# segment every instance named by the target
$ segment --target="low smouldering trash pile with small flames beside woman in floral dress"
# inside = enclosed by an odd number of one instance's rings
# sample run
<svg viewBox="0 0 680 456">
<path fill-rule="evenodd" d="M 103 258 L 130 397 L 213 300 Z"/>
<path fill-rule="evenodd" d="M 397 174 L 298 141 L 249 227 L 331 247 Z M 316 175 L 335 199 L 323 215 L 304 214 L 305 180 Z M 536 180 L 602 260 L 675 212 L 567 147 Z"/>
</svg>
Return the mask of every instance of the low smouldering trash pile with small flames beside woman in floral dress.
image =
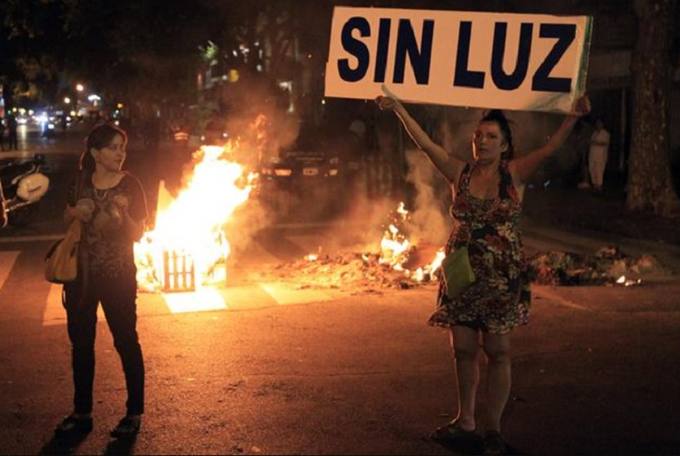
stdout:
<svg viewBox="0 0 680 456">
<path fill-rule="evenodd" d="M 444 251 L 409 241 L 410 217 L 404 203 L 390 214 L 379 251 L 314 253 L 264 270 L 260 278 L 297 282 L 301 287 L 349 290 L 408 289 L 436 282 Z M 422 265 L 425 258 L 430 262 Z"/>
</svg>

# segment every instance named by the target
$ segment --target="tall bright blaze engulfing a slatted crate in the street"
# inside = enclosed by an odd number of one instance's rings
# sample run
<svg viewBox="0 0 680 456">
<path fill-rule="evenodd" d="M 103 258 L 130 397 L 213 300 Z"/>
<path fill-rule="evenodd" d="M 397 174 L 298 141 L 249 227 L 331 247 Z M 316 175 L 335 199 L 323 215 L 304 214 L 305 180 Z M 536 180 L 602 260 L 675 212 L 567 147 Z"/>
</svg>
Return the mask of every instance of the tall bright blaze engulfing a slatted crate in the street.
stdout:
<svg viewBox="0 0 680 456">
<path fill-rule="evenodd" d="M 185 188 L 159 208 L 154 229 L 135 244 L 141 290 L 188 291 L 226 281 L 225 225 L 248 199 L 256 177 L 229 160 L 233 147 L 202 146 Z"/>
</svg>

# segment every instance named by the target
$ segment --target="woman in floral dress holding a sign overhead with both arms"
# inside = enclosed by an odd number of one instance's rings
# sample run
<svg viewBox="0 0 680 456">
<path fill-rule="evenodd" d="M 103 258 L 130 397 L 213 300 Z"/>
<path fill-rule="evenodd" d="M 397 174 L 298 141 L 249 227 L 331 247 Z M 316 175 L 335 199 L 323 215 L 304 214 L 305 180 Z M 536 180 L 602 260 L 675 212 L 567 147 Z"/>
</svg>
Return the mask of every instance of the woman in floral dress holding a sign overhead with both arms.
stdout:
<svg viewBox="0 0 680 456">
<path fill-rule="evenodd" d="M 583 97 L 577 102 L 575 112 L 564 119 L 547 144 L 519 157 L 514 155 L 512 131 L 504 114 L 488 112 L 477 125 L 468 163 L 433 142 L 404 106 L 384 90 L 388 96 L 376 99 L 380 109 L 397 114 L 414 143 L 451 185 L 454 227 L 446 245 L 447 259 L 452 252 L 466 248 L 465 263 L 455 269 L 467 268 L 474 277 L 470 285 L 449 283 L 448 289 L 442 280 L 437 308 L 429 320 L 430 325 L 450 329 L 459 395 L 457 417 L 434 431 L 432 438 L 445 442 L 477 436 L 475 398 L 481 337 L 488 358 L 484 450 L 499 454 L 505 450 L 500 431 L 510 394 L 510 335 L 528 322 L 531 302 L 518 228 L 523 186 L 538 165 L 562 145 L 578 117 L 589 112 L 589 101 Z M 442 275 L 445 277 L 446 271 Z"/>
</svg>

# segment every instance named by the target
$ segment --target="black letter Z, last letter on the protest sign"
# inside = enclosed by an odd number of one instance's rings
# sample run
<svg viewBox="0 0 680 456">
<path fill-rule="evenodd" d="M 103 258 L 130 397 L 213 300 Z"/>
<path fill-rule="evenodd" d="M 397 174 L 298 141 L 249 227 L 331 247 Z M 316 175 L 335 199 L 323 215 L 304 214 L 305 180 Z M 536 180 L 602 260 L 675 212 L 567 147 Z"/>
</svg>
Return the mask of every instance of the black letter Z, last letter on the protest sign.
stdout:
<svg viewBox="0 0 680 456">
<path fill-rule="evenodd" d="M 538 36 L 541 38 L 557 38 L 557 43 L 536 70 L 531 83 L 531 90 L 569 93 L 571 91 L 571 78 L 551 78 L 550 72 L 574 41 L 576 24 L 541 24 L 541 31 Z"/>
</svg>

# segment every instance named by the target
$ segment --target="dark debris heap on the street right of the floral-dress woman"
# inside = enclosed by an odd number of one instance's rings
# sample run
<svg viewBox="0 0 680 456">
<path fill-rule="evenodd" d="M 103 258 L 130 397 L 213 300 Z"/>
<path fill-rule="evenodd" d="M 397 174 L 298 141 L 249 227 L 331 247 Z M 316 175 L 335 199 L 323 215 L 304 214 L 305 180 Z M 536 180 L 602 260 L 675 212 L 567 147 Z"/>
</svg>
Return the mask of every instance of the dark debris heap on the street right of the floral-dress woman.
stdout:
<svg viewBox="0 0 680 456">
<path fill-rule="evenodd" d="M 595 255 L 543 252 L 529 259 L 532 281 L 541 285 L 640 285 L 642 275 L 662 272 L 651 255 L 633 258 L 609 246 Z"/>
</svg>

